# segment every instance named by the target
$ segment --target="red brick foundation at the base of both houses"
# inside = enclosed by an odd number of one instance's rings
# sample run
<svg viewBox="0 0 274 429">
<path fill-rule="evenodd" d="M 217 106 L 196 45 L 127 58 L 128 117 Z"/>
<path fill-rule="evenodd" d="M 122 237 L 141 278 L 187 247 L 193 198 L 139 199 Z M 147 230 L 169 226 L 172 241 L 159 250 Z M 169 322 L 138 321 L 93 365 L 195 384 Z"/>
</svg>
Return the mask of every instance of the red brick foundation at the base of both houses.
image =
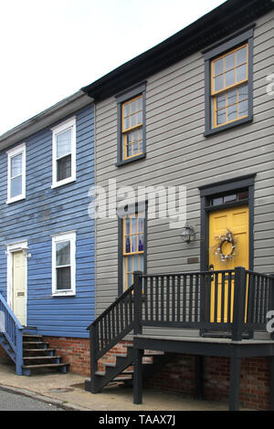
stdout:
<svg viewBox="0 0 274 429">
<path fill-rule="evenodd" d="M 57 350 L 64 361 L 70 364 L 69 371 L 90 377 L 90 340 L 74 338 L 45 337 L 50 347 Z M 121 341 L 100 359 L 98 370 L 104 371 L 102 362 L 115 362 L 114 354 L 126 353 L 130 341 Z M 205 399 L 228 402 L 229 359 L 205 357 Z M 147 383 L 163 391 L 195 393 L 195 357 L 178 355 L 162 371 Z M 244 407 L 269 410 L 269 360 L 249 358 L 242 360 L 240 402 Z"/>
</svg>

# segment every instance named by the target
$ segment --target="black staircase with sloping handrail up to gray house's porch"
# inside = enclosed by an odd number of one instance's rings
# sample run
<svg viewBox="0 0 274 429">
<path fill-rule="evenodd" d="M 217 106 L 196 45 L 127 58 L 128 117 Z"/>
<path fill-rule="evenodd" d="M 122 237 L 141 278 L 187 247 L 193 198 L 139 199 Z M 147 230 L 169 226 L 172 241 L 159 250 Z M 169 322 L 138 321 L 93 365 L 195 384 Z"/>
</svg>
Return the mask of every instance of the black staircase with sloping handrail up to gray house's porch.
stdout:
<svg viewBox="0 0 274 429">
<path fill-rule="evenodd" d="M 140 306 L 142 303 L 137 298 L 136 292 L 134 297 L 134 286 L 132 285 L 88 328 L 90 330 L 91 380 L 85 383 L 87 391 L 98 393 L 110 382 L 132 382 L 135 360 L 132 345 L 127 346 L 125 354 L 111 355 L 115 357 L 115 363 L 102 363 L 105 371 L 98 371 L 98 363 L 100 358 L 134 329 L 134 314 L 140 311 Z M 171 354 L 144 351 L 142 379 L 147 380 L 172 357 Z"/>
</svg>

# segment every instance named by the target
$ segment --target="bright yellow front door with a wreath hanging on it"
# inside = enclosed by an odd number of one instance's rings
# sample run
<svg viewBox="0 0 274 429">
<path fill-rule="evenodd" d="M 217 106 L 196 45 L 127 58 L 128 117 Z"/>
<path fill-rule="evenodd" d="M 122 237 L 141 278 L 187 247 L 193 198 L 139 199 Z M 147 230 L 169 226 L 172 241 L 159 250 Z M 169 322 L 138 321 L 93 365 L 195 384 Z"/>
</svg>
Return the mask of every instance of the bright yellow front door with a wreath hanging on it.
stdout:
<svg viewBox="0 0 274 429">
<path fill-rule="evenodd" d="M 233 243 L 226 241 L 224 237 L 231 233 Z M 233 245 L 234 244 L 234 245 Z M 233 247 L 235 246 L 235 247 Z M 209 216 L 209 266 L 215 271 L 246 267 L 249 261 L 249 214 L 248 206 L 228 208 L 212 212 Z M 210 321 L 220 321 L 221 312 L 221 285 L 218 285 L 215 293 L 215 282 L 211 285 L 210 297 Z M 227 321 L 227 282 L 225 285 L 225 322 Z M 232 284 L 231 299 L 234 297 L 234 284 Z M 217 298 L 216 298 L 217 296 Z M 217 302 L 216 302 L 217 300 Z M 215 309 L 217 308 L 217 320 Z M 231 305 L 231 317 L 233 305 Z"/>
</svg>

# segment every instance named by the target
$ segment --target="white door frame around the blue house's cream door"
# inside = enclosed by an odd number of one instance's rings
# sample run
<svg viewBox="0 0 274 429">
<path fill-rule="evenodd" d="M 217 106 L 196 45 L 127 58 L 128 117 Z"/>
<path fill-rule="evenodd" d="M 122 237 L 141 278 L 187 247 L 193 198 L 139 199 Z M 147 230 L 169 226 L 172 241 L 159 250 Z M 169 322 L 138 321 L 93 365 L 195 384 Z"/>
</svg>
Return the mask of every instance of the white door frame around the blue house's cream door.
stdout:
<svg viewBox="0 0 274 429">
<path fill-rule="evenodd" d="M 14 253 L 22 251 L 26 259 L 26 323 L 27 323 L 27 241 L 19 241 L 12 243 L 6 246 L 6 256 L 7 256 L 7 265 L 6 265 L 6 297 L 7 304 L 13 309 L 13 292 L 14 292 L 14 282 L 13 282 L 13 269 L 14 269 Z"/>
</svg>

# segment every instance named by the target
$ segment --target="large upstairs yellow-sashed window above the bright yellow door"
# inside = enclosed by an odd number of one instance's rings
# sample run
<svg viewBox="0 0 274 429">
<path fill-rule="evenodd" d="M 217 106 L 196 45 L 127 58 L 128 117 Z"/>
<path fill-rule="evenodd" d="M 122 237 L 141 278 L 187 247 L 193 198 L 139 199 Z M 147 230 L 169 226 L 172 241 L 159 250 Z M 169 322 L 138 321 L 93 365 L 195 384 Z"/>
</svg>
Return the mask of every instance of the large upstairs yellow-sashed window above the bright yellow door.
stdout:
<svg viewBox="0 0 274 429">
<path fill-rule="evenodd" d="M 205 52 L 205 136 L 253 118 L 253 34 Z"/>
</svg>

